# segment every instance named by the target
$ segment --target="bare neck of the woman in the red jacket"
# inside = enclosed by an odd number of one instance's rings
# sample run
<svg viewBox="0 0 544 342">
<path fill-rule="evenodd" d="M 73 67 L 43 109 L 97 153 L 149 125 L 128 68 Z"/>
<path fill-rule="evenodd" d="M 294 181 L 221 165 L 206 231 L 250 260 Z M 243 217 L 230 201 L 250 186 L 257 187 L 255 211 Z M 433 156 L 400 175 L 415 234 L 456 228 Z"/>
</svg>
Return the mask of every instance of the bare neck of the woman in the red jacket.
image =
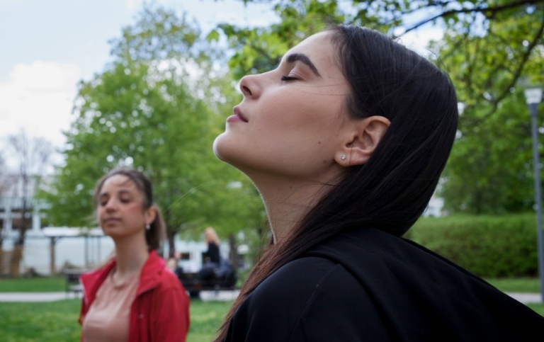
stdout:
<svg viewBox="0 0 544 342">
<path fill-rule="evenodd" d="M 140 272 L 147 257 L 147 244 L 145 236 L 125 236 L 123 239 L 115 240 L 115 258 L 117 260 L 115 273 L 118 276 L 130 275 Z"/>
</svg>

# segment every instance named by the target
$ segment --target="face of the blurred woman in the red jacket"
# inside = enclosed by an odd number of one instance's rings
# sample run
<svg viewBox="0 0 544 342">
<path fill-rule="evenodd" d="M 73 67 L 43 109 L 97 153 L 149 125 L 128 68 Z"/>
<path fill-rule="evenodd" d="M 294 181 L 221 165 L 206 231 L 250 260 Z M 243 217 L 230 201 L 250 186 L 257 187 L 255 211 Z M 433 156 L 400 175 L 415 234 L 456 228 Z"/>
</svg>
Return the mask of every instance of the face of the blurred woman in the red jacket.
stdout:
<svg viewBox="0 0 544 342">
<path fill-rule="evenodd" d="M 143 209 L 144 198 L 135 183 L 123 175 L 104 181 L 98 194 L 98 222 L 104 234 L 113 238 L 144 234 L 150 222 L 149 210 Z"/>
</svg>

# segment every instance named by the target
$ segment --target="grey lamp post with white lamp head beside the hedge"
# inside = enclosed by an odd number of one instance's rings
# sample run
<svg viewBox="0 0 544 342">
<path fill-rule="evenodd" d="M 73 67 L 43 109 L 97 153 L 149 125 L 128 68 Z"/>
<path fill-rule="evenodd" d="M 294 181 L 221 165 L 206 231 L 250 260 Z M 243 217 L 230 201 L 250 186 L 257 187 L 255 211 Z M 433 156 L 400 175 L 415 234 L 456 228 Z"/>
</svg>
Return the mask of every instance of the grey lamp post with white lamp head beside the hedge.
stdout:
<svg viewBox="0 0 544 342">
<path fill-rule="evenodd" d="M 538 103 L 542 101 L 542 89 L 526 89 L 525 98 L 531 112 L 531 126 L 533 131 L 533 166 L 535 169 L 535 200 L 536 200 L 536 239 L 538 246 L 538 276 L 540 277 L 540 301 L 544 301 L 544 246 L 542 234 L 542 195 L 540 194 L 540 162 L 538 161 L 538 132 L 536 115 Z"/>
</svg>

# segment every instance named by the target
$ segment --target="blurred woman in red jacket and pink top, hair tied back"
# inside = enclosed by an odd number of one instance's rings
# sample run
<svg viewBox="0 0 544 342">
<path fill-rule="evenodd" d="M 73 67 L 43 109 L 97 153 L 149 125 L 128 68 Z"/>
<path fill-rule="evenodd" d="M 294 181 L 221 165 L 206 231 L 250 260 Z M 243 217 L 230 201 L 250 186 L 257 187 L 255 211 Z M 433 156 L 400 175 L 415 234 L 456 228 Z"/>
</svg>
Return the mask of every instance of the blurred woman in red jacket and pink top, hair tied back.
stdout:
<svg viewBox="0 0 544 342">
<path fill-rule="evenodd" d="M 135 169 L 114 169 L 98 181 L 94 202 L 115 256 L 81 275 L 81 341 L 186 341 L 189 300 L 157 254 L 164 223 L 151 182 Z"/>
</svg>

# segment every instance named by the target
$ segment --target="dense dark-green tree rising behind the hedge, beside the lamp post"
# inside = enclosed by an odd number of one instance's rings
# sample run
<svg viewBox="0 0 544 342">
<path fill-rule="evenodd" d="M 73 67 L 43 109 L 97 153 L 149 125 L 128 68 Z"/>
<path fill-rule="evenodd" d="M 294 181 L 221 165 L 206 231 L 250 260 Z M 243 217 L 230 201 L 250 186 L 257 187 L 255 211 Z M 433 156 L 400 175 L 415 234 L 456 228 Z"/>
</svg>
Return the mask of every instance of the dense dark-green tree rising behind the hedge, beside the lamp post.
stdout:
<svg viewBox="0 0 544 342">
<path fill-rule="evenodd" d="M 487 120 L 458 132 L 441 190 L 448 210 L 502 214 L 531 208 L 531 124 L 520 108 L 525 108 L 523 91 L 516 91 Z M 482 115 L 489 110 L 472 108 L 477 109 Z"/>
</svg>

